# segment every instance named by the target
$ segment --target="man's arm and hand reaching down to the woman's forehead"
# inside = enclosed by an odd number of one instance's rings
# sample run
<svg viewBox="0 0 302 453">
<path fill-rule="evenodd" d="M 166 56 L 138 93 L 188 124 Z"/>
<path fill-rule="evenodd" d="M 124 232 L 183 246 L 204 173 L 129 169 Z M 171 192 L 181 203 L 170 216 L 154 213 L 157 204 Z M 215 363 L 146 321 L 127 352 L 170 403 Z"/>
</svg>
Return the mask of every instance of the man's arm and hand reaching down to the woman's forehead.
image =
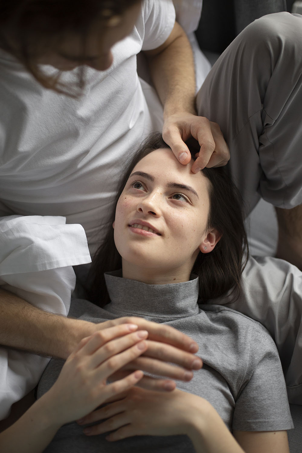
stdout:
<svg viewBox="0 0 302 453">
<path fill-rule="evenodd" d="M 168 39 L 158 48 L 145 51 L 151 77 L 163 103 L 163 139 L 182 164 L 191 160 L 183 141 L 191 136 L 200 145 L 194 172 L 205 166 L 225 165 L 229 149 L 219 126 L 202 116 L 196 116 L 195 71 L 191 45 L 182 27 L 177 24 Z"/>
</svg>

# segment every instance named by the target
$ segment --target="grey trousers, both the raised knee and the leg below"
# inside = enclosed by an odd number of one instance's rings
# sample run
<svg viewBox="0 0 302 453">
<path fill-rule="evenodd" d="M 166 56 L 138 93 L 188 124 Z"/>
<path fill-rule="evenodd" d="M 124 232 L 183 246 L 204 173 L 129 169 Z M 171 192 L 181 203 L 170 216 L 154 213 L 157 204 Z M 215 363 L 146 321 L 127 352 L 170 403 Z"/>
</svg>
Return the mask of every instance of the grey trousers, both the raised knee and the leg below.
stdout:
<svg viewBox="0 0 302 453">
<path fill-rule="evenodd" d="M 212 67 L 197 107 L 221 127 L 246 215 L 260 197 L 278 207 L 302 203 L 301 15 L 269 14 L 246 27 Z M 242 288 L 230 307 L 271 333 L 289 401 L 302 404 L 302 272 L 283 260 L 250 258 Z"/>
</svg>

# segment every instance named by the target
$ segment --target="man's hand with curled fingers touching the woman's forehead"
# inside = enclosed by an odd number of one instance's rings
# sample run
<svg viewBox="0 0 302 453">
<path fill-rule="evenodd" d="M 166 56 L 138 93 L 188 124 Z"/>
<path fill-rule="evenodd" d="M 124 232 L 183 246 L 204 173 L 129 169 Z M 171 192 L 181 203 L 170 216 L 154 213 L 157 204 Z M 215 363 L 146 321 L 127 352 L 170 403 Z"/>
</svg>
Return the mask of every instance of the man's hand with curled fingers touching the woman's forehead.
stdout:
<svg viewBox="0 0 302 453">
<path fill-rule="evenodd" d="M 198 173 L 205 167 L 222 167 L 230 159 L 220 127 L 203 116 L 179 113 L 168 116 L 163 124 L 163 140 L 172 149 L 181 164 L 188 164 L 191 154 L 184 143 L 193 137 L 200 145 L 192 172 Z"/>
</svg>

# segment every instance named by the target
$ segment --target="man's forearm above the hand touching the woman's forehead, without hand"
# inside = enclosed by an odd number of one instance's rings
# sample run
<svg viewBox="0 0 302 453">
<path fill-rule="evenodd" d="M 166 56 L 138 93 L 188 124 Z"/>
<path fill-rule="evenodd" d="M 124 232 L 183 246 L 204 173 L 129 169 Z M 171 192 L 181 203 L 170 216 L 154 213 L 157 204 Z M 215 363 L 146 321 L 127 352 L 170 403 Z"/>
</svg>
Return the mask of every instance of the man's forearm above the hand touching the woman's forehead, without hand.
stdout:
<svg viewBox="0 0 302 453">
<path fill-rule="evenodd" d="M 178 112 L 196 115 L 195 70 L 192 48 L 179 24 L 166 48 L 146 52 L 151 77 L 164 106 L 164 118 Z"/>
</svg>

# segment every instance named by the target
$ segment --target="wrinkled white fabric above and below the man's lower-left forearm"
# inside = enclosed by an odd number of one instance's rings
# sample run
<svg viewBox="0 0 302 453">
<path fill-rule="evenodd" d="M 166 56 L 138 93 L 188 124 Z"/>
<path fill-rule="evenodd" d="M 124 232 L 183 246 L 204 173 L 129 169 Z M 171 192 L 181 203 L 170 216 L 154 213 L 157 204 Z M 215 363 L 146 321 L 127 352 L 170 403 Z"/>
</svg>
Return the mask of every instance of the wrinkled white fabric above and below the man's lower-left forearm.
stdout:
<svg viewBox="0 0 302 453">
<path fill-rule="evenodd" d="M 0 223 L 0 288 L 62 316 L 76 283 L 72 265 L 91 262 L 83 227 L 65 222 L 65 217 L 10 216 Z M 48 361 L 0 347 L 0 419 L 37 385 Z"/>
</svg>

